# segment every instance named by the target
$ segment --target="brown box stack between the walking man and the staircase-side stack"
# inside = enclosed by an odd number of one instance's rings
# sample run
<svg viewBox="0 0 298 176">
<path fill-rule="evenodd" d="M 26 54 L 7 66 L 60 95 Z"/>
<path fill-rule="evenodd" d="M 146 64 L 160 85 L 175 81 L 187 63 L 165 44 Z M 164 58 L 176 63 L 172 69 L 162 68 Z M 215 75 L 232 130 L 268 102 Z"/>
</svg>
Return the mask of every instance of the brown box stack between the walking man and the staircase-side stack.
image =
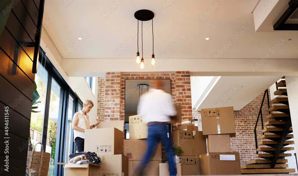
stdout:
<svg viewBox="0 0 298 176">
<path fill-rule="evenodd" d="M 181 120 L 181 126 L 172 133 L 173 143 L 181 147 L 181 175 L 200 175 L 199 156 L 207 152 L 206 138 L 194 125 L 193 119 Z"/>
</svg>

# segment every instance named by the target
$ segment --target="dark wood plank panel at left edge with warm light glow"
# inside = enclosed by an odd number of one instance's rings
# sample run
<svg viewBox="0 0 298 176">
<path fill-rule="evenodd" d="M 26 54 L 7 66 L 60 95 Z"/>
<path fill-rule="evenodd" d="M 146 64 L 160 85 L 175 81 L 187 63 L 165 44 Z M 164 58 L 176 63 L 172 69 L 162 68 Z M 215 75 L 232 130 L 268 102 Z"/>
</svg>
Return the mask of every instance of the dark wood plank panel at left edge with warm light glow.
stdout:
<svg viewBox="0 0 298 176">
<path fill-rule="evenodd" d="M 35 77 L 34 47 L 28 43 L 35 42 L 39 0 L 12 2 L 0 35 L 0 175 L 25 175 Z M 9 108 L 7 125 L 5 107 Z M 7 166 L 9 172 L 4 170 Z"/>
</svg>

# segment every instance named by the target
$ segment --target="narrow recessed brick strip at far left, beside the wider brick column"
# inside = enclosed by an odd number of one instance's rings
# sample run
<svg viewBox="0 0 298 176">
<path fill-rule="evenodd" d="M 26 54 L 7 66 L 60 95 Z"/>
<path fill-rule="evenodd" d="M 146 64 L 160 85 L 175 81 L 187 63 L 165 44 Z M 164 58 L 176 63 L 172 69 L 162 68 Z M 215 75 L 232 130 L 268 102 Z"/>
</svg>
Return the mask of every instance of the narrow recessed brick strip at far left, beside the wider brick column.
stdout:
<svg viewBox="0 0 298 176">
<path fill-rule="evenodd" d="M 98 77 L 97 92 L 98 120 L 105 121 L 105 77 Z"/>
</svg>

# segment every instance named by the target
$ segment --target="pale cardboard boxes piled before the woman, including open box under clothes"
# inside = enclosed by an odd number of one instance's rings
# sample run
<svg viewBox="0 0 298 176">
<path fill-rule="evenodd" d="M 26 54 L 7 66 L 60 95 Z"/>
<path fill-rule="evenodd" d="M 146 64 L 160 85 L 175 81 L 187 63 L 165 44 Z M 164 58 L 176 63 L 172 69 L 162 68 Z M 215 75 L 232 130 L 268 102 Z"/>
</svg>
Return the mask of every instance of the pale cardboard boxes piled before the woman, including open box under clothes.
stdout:
<svg viewBox="0 0 298 176">
<path fill-rule="evenodd" d="M 101 122 L 85 131 L 84 151 L 95 152 L 100 165 L 66 164 L 67 175 L 128 176 L 128 157 L 123 155 L 123 120 Z"/>
</svg>

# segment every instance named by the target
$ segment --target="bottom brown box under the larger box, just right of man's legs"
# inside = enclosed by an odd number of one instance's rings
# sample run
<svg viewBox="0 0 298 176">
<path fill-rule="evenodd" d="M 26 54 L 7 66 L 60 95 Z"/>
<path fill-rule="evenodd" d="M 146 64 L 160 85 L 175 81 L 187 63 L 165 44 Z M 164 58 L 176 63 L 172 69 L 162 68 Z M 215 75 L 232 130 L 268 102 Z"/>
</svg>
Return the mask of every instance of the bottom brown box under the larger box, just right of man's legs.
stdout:
<svg viewBox="0 0 298 176">
<path fill-rule="evenodd" d="M 181 175 L 201 175 L 200 156 L 180 156 Z"/>
</svg>

